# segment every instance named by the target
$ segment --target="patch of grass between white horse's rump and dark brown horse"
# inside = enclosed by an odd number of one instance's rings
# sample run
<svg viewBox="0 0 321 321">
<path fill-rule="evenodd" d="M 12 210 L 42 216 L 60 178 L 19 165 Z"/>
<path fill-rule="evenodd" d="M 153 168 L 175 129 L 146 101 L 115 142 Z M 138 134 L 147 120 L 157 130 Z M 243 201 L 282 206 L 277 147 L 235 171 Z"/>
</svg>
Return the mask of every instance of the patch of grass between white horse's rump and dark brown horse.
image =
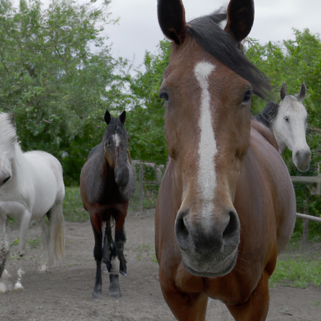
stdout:
<svg viewBox="0 0 321 321">
<path fill-rule="evenodd" d="M 65 187 L 63 211 L 65 221 L 82 222 L 89 220 L 89 213 L 82 205 L 79 187 Z"/>
</svg>

